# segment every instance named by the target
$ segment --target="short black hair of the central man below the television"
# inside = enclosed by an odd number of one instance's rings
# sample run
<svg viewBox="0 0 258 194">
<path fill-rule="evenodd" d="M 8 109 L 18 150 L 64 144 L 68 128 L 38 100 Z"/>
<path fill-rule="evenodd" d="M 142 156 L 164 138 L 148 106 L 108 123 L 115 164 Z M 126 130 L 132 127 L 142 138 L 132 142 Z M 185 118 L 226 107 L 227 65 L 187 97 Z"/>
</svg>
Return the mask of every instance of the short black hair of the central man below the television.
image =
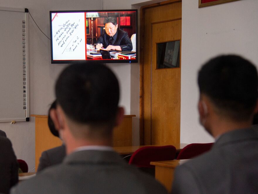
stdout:
<svg viewBox="0 0 258 194">
<path fill-rule="evenodd" d="M 55 85 L 57 103 L 78 123 L 113 123 L 118 111 L 119 84 L 106 66 L 79 63 L 65 68 Z"/>
</svg>

